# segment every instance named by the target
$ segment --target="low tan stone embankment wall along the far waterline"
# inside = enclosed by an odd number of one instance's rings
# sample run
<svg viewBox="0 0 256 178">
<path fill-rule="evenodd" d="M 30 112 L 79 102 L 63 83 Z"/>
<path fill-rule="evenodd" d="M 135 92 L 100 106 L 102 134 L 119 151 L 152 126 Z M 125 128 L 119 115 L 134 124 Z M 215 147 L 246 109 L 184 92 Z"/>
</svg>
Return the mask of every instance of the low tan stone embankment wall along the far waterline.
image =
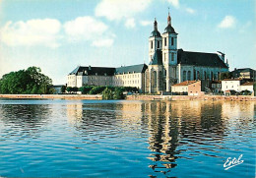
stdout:
<svg viewBox="0 0 256 178">
<path fill-rule="evenodd" d="M 0 94 L 0 98 L 18 98 L 18 99 L 85 99 L 102 100 L 100 94 Z M 226 101 L 256 101 L 256 96 L 251 95 L 127 95 L 124 100 L 226 100 Z"/>
</svg>

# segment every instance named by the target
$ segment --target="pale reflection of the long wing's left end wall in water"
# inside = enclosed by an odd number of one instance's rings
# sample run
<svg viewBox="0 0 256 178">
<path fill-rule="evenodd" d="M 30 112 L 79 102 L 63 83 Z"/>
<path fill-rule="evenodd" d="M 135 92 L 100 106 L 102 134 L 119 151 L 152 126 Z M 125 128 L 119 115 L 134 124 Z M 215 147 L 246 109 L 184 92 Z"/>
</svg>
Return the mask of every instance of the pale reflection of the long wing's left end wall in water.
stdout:
<svg viewBox="0 0 256 178">
<path fill-rule="evenodd" d="M 83 103 L 76 102 L 67 104 L 68 122 L 71 124 L 79 124 L 83 117 Z"/>
</svg>

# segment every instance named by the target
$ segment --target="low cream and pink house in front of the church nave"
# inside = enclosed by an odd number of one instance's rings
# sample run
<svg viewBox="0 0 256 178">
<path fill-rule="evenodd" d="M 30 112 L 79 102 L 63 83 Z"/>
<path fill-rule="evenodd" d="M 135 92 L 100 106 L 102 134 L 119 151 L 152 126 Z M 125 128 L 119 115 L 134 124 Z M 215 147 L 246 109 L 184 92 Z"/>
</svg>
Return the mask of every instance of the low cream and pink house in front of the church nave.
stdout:
<svg viewBox="0 0 256 178">
<path fill-rule="evenodd" d="M 172 93 L 187 93 L 188 95 L 201 95 L 201 81 L 185 81 L 171 86 Z"/>
</svg>

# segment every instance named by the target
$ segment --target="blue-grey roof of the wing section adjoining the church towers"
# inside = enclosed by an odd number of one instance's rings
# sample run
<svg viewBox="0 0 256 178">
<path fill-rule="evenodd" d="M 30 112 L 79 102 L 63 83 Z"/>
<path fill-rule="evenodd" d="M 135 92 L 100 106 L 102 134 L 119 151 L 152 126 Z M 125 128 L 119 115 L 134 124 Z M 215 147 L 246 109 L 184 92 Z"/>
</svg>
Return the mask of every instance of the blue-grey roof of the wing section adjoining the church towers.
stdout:
<svg viewBox="0 0 256 178">
<path fill-rule="evenodd" d="M 146 64 L 139 64 L 133 66 L 123 66 L 115 69 L 115 74 L 128 74 L 128 73 L 145 73 L 148 66 Z"/>
</svg>

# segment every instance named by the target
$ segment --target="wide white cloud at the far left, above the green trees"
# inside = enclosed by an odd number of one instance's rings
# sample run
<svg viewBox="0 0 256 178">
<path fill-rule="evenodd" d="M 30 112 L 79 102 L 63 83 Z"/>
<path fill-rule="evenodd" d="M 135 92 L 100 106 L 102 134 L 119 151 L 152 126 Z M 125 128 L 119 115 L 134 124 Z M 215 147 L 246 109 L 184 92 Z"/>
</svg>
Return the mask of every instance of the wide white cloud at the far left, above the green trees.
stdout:
<svg viewBox="0 0 256 178">
<path fill-rule="evenodd" d="M 43 45 L 57 47 L 61 24 L 54 19 L 35 19 L 27 22 L 7 22 L 0 29 L 0 40 L 9 46 Z"/>
</svg>

